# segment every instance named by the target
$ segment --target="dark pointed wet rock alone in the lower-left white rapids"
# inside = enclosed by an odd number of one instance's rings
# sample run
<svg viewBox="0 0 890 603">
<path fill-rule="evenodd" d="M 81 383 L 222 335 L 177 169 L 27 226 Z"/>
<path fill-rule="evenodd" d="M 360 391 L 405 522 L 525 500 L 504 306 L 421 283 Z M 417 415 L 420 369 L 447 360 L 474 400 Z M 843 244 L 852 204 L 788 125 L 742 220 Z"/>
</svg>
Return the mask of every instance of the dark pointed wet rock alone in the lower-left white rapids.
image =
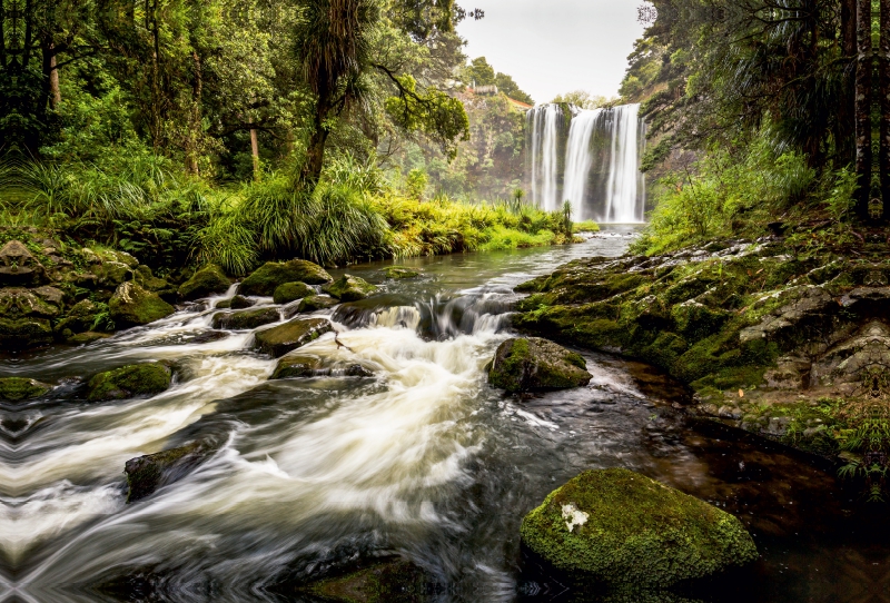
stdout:
<svg viewBox="0 0 890 603">
<path fill-rule="evenodd" d="M 192 442 L 178 448 L 130 458 L 125 465 L 127 474 L 127 503 L 135 503 L 157 492 L 158 488 L 181 480 L 216 452 L 208 442 Z"/>
</svg>

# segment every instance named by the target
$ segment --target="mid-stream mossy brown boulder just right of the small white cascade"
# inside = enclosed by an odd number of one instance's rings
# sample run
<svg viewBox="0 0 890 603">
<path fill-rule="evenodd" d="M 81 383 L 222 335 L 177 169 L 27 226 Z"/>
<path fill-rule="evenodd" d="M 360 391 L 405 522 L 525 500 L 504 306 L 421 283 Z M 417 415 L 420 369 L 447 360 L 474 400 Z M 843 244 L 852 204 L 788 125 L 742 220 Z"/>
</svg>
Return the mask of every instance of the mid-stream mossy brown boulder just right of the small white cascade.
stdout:
<svg viewBox="0 0 890 603">
<path fill-rule="evenodd" d="M 580 354 L 537 337 L 501 344 L 488 372 L 488 383 L 511 393 L 581 387 L 591 378 Z"/>
</svg>

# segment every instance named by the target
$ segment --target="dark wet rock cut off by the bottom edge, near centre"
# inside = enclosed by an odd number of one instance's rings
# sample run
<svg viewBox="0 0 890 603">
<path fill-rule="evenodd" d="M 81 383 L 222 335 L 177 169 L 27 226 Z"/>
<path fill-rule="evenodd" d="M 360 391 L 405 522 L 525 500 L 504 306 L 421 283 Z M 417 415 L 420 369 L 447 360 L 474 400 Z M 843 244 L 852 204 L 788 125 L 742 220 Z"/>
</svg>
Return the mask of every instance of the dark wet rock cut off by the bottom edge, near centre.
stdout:
<svg viewBox="0 0 890 603">
<path fill-rule="evenodd" d="M 432 603 L 437 600 L 433 577 L 407 561 L 383 563 L 323 580 L 308 590 L 325 601 L 343 603 Z"/>
</svg>

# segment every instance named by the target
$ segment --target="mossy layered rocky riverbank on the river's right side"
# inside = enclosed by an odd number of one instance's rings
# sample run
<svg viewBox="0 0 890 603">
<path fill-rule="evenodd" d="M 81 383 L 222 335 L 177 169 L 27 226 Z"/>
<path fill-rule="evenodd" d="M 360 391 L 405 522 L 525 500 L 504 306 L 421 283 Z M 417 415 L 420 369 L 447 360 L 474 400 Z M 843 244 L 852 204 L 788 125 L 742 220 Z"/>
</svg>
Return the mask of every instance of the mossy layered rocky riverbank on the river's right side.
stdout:
<svg viewBox="0 0 890 603">
<path fill-rule="evenodd" d="M 518 288 L 514 325 L 659 366 L 693 413 L 867 469 L 890 415 L 889 283 L 878 237 L 856 255 L 713 241 L 567 264 Z"/>
</svg>

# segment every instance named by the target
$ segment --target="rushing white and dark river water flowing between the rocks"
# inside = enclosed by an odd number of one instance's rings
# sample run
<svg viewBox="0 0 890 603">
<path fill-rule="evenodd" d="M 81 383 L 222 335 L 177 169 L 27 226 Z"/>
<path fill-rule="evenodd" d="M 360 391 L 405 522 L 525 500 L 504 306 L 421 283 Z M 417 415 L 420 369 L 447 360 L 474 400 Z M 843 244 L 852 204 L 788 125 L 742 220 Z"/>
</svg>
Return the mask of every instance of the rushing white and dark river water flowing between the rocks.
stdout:
<svg viewBox="0 0 890 603">
<path fill-rule="evenodd" d="M 417 260 L 424 276 L 398 283 L 382 265 L 350 269 L 386 294 L 334 314 L 346 347 L 327 335 L 305 350 L 360 362 L 373 379 L 269 382 L 275 362 L 250 352 L 253 334 L 212 332 L 200 307 L 0 360 L 2 376 L 60 384 L 49 401 L 0 408 L 0 600 L 108 600 L 97 585 L 113 581 L 128 600 L 308 601 L 284 585 L 398 554 L 436 576 L 442 602 L 563 601 L 522 569 L 520 522 L 581 471 L 625 466 L 751 528 L 763 561 L 716 600 L 870 601 L 890 557 L 869 538 L 882 524 L 858 527 L 831 475 L 788 451 L 692 429 L 683 389 L 645 366 L 587 355 L 585 388 L 516 399 L 487 387 L 512 288 L 619 255 L 625 235 Z M 148 359 L 175 363 L 167 393 L 82 399 L 79 379 Z M 204 434 L 225 442 L 208 463 L 125 503 L 127 459 Z"/>
</svg>

